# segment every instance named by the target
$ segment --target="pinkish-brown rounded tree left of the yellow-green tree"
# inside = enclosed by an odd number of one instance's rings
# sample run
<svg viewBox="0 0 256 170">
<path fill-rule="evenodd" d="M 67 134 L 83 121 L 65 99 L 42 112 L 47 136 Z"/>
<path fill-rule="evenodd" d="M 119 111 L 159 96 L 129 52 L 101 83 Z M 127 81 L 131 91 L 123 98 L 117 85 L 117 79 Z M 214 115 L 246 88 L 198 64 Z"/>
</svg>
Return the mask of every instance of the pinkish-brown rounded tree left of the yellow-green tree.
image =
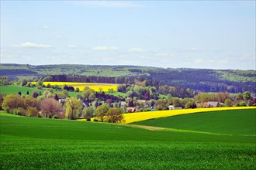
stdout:
<svg viewBox="0 0 256 170">
<path fill-rule="evenodd" d="M 62 111 L 61 104 L 54 100 L 54 98 L 47 98 L 41 100 L 40 108 L 42 110 L 43 116 L 49 118 L 54 117 Z"/>
</svg>

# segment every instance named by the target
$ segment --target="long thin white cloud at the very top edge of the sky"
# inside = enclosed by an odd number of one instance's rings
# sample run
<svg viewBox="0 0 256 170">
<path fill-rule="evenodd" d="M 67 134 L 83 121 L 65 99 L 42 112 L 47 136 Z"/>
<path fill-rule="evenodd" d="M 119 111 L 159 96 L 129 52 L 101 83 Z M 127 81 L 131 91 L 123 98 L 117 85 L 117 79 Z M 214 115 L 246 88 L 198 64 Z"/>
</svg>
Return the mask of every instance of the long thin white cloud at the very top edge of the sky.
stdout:
<svg viewBox="0 0 256 170">
<path fill-rule="evenodd" d="M 138 5 L 134 2 L 125 2 L 125 1 L 78 1 L 72 2 L 74 5 L 80 6 L 95 6 L 95 7 L 106 7 L 106 8 L 138 8 L 141 5 Z"/>
</svg>

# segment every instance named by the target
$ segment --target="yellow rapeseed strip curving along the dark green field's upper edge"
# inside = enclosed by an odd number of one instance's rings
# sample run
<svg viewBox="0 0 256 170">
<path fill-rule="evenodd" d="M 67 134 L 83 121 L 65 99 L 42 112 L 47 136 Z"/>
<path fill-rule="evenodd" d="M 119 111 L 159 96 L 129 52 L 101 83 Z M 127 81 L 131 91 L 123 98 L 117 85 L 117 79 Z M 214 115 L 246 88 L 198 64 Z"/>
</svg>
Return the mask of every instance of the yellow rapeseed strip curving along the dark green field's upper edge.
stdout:
<svg viewBox="0 0 256 170">
<path fill-rule="evenodd" d="M 211 108 L 198 108 L 198 109 L 182 109 L 182 110 L 161 110 L 161 111 L 148 111 L 137 112 L 131 114 L 123 114 L 125 124 L 130 124 L 137 121 L 145 121 L 159 117 L 171 117 L 180 114 L 193 114 L 206 111 L 216 110 L 239 110 L 239 109 L 256 109 L 256 107 L 211 107 Z"/>
</svg>

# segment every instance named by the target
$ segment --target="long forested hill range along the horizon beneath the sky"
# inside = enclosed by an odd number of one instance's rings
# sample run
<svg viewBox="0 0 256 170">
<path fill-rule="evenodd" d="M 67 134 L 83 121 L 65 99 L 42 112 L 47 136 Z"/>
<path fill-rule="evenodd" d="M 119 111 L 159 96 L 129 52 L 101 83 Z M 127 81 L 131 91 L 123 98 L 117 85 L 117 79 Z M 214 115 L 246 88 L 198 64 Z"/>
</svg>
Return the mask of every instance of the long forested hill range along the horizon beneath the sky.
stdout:
<svg viewBox="0 0 256 170">
<path fill-rule="evenodd" d="M 249 90 L 256 93 L 255 70 L 171 69 L 150 66 L 99 66 L 99 65 L 41 65 L 0 64 L 0 76 L 15 80 L 21 76 L 77 75 L 77 76 L 142 76 L 173 86 L 205 92 Z"/>
</svg>

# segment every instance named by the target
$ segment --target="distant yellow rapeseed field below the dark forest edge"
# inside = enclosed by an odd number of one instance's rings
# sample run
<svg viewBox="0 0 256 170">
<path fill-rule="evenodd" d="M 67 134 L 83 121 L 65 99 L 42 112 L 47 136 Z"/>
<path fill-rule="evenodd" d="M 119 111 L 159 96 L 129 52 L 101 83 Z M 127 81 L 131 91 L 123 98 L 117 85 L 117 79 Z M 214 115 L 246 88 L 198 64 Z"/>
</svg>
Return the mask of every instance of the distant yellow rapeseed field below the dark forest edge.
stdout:
<svg viewBox="0 0 256 170">
<path fill-rule="evenodd" d="M 31 82 L 36 84 L 36 82 Z M 50 83 L 51 86 L 72 86 L 74 89 L 79 88 L 80 91 L 84 90 L 85 87 L 89 87 L 95 91 L 100 91 L 102 88 L 103 91 L 109 91 L 109 89 L 113 89 L 114 91 L 117 90 L 118 84 L 110 84 L 110 83 L 76 83 L 76 82 L 43 82 L 43 85 L 47 86 Z"/>
</svg>

